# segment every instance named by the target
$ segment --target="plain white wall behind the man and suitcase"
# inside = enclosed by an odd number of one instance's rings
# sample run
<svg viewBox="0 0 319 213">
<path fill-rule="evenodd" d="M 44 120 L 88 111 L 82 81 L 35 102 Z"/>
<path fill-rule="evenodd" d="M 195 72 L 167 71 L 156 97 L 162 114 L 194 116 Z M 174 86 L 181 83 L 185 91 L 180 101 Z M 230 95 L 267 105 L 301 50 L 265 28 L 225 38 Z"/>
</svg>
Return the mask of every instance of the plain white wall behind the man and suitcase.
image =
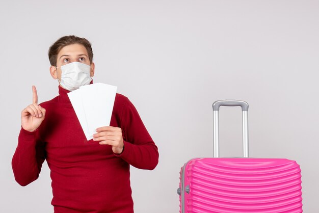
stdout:
<svg viewBox="0 0 319 213">
<path fill-rule="evenodd" d="M 319 1 L 2 1 L 0 212 L 52 212 L 49 170 L 20 187 L 11 169 L 20 112 L 58 95 L 48 47 L 93 45 L 94 82 L 117 85 L 159 148 L 154 171 L 131 169 L 136 212 L 178 212 L 180 167 L 212 156 L 218 99 L 250 104 L 250 155 L 295 159 L 304 212 L 319 212 Z M 241 155 L 241 111 L 222 108 L 221 155 Z"/>
</svg>

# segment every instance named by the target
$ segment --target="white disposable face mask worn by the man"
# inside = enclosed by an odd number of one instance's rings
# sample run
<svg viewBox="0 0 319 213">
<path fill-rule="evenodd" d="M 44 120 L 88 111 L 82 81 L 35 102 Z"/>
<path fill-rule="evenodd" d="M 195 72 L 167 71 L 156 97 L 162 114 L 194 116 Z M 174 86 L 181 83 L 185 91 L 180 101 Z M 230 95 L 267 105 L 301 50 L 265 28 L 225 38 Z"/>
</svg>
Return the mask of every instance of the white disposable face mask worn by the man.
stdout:
<svg viewBox="0 0 319 213">
<path fill-rule="evenodd" d="M 91 66 L 81 63 L 72 62 L 61 67 L 62 70 L 60 85 L 69 91 L 78 89 L 81 86 L 89 85 L 92 81 L 90 76 Z"/>
</svg>

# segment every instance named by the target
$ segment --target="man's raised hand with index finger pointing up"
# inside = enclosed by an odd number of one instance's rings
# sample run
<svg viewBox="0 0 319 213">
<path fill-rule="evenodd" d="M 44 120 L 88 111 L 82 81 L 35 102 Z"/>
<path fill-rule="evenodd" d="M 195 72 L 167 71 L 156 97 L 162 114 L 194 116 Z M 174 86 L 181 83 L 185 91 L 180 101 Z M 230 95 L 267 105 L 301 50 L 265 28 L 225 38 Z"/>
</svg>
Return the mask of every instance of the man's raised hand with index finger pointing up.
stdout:
<svg viewBox="0 0 319 213">
<path fill-rule="evenodd" d="M 45 116 L 45 109 L 38 105 L 38 94 L 32 86 L 33 102 L 21 112 L 21 126 L 27 131 L 35 131 L 41 125 Z"/>
</svg>

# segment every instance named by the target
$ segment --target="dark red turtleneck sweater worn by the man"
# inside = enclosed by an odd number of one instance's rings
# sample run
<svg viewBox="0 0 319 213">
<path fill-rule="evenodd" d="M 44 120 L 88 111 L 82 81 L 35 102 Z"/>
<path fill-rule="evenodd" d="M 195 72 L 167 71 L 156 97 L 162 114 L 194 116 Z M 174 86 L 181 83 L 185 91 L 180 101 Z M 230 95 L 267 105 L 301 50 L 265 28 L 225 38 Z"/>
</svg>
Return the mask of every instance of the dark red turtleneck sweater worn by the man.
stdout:
<svg viewBox="0 0 319 213">
<path fill-rule="evenodd" d="M 55 213 L 133 212 L 129 165 L 154 169 L 156 145 L 134 105 L 121 94 L 116 94 L 110 126 L 122 129 L 123 152 L 117 155 L 109 145 L 87 141 L 68 92 L 59 86 L 59 96 L 40 104 L 46 115 L 36 131 L 21 128 L 12 158 L 16 181 L 24 186 L 36 180 L 46 159 Z"/>
</svg>

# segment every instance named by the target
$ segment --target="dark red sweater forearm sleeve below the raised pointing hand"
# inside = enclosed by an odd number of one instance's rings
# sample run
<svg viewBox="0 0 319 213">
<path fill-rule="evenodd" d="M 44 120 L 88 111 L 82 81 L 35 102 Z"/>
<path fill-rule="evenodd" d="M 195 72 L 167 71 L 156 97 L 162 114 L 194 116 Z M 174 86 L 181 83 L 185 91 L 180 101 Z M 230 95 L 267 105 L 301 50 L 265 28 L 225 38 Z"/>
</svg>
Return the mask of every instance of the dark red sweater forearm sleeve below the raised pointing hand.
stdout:
<svg viewBox="0 0 319 213">
<path fill-rule="evenodd" d="M 15 180 L 22 186 L 39 177 L 45 159 L 44 142 L 40 141 L 39 129 L 20 130 L 18 146 L 12 157 L 12 170 Z"/>
</svg>

